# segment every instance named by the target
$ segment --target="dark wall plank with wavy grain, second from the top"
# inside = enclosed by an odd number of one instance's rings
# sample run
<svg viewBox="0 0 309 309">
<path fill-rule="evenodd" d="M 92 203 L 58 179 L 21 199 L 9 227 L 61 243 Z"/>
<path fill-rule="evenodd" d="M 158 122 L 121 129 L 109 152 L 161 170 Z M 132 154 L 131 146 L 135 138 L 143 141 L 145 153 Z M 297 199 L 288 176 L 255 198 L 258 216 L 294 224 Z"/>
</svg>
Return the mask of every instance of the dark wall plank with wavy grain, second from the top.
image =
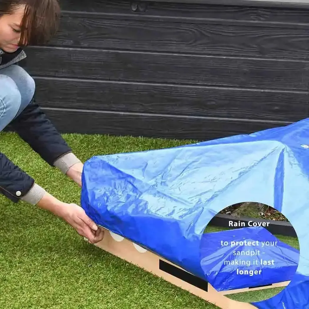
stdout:
<svg viewBox="0 0 309 309">
<path fill-rule="evenodd" d="M 148 16 L 149 17 L 149 16 Z M 133 19 L 134 18 L 134 19 Z M 306 28 L 266 27 L 230 22 L 188 22 L 155 18 L 85 16 L 65 13 L 50 45 L 213 54 L 277 59 L 309 58 Z"/>
</svg>

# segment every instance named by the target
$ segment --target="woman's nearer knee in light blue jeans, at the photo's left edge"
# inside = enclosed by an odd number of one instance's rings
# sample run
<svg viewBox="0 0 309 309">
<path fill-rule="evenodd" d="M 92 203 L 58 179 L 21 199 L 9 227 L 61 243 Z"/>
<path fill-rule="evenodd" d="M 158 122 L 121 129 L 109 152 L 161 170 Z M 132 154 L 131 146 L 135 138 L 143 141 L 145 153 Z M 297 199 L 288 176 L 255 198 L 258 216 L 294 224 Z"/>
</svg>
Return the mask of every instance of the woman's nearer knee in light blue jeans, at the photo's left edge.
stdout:
<svg viewBox="0 0 309 309">
<path fill-rule="evenodd" d="M 0 74 L 0 131 L 17 115 L 21 106 L 21 94 L 15 81 Z"/>
</svg>

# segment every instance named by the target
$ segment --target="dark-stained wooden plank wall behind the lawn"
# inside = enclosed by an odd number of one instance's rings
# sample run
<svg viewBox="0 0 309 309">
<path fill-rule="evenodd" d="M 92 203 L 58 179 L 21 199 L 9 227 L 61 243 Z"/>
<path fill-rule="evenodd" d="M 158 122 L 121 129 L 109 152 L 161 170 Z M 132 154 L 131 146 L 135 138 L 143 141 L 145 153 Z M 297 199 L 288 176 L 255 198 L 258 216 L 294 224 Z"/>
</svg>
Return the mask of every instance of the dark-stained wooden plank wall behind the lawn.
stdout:
<svg viewBox="0 0 309 309">
<path fill-rule="evenodd" d="M 309 9 L 62 0 L 26 49 L 62 132 L 208 140 L 308 117 Z"/>
</svg>

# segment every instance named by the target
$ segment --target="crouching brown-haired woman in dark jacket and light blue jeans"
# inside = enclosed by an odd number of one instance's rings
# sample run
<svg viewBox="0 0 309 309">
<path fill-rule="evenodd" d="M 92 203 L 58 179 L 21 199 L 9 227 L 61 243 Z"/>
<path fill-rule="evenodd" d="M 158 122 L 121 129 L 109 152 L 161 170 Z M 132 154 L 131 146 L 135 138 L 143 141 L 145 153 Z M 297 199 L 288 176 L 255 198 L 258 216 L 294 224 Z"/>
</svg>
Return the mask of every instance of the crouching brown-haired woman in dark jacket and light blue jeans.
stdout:
<svg viewBox="0 0 309 309">
<path fill-rule="evenodd" d="M 34 80 L 17 65 L 26 57 L 23 46 L 53 36 L 59 15 L 57 0 L 0 0 L 0 131 L 10 125 L 49 165 L 81 186 L 83 163 L 34 102 Z M 1 152 L 0 193 L 51 211 L 91 243 L 103 239 L 103 230 L 81 207 L 53 197 Z"/>
</svg>

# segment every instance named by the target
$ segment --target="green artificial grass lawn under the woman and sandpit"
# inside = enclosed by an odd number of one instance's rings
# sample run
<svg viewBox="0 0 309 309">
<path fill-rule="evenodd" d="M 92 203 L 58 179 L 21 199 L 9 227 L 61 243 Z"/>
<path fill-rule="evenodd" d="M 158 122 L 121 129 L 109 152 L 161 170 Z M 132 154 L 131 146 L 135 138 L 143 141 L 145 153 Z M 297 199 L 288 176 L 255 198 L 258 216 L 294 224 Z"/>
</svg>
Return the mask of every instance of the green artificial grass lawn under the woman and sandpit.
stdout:
<svg viewBox="0 0 309 309">
<path fill-rule="evenodd" d="M 82 161 L 93 155 L 195 142 L 63 136 Z M 0 150 L 49 193 L 79 204 L 78 185 L 45 163 L 16 134 L 0 133 Z M 12 203 L 2 195 L 0 237 L 0 308 L 218 308 L 86 243 L 49 212 L 23 202 Z"/>
</svg>

